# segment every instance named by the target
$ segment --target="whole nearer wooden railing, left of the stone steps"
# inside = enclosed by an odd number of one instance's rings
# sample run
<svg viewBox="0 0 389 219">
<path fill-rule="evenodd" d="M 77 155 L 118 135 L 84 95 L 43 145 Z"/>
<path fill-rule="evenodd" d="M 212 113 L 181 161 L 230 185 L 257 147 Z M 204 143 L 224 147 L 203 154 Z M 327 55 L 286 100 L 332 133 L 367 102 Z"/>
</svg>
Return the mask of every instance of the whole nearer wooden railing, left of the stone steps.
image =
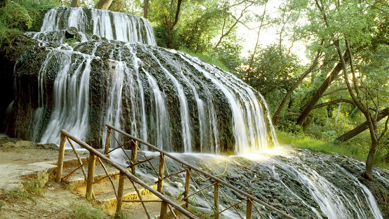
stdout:
<svg viewBox="0 0 389 219">
<path fill-rule="evenodd" d="M 107 136 L 107 141 L 106 141 L 106 150 L 105 150 L 105 152 L 107 152 L 107 153 L 109 153 L 109 151 L 107 150 L 109 148 L 109 138 L 110 138 L 110 135 Z M 78 159 L 78 161 L 80 163 L 80 166 L 77 167 L 74 171 L 72 171 L 67 176 L 62 177 L 63 158 L 64 158 L 64 154 L 65 154 L 65 143 L 66 143 L 66 140 L 68 140 L 68 142 L 70 143 L 71 147 L 73 148 L 73 151 L 74 151 L 74 153 L 75 153 L 75 155 L 76 155 L 76 157 L 77 157 L 77 159 Z M 86 150 L 89 151 L 88 173 L 85 172 L 84 167 L 83 167 L 85 163 L 82 163 L 82 160 L 81 160 L 77 150 L 75 150 L 75 147 L 74 147 L 72 141 L 70 141 L 70 140 L 74 141 L 75 143 L 77 143 L 78 145 L 80 145 L 81 147 L 83 147 L 83 148 L 85 148 Z M 134 142 L 133 145 L 136 145 L 135 142 Z M 119 146 L 117 148 L 122 148 L 124 153 L 127 155 L 127 157 L 131 161 L 136 161 L 136 156 L 137 156 L 136 152 L 137 152 L 137 150 L 136 150 L 135 146 L 132 146 L 132 147 L 133 147 L 133 150 L 132 150 L 132 153 L 131 153 L 131 158 L 124 151 L 123 145 L 121 145 L 121 146 Z M 117 148 L 114 148 L 114 149 L 117 149 Z M 163 156 L 161 156 L 161 157 L 163 157 Z M 76 170 L 81 168 L 82 173 L 83 173 L 83 175 L 84 175 L 84 177 L 86 179 L 86 198 L 87 199 L 93 198 L 93 196 L 94 196 L 94 194 L 93 194 L 93 184 L 94 184 L 94 182 L 96 182 L 96 181 L 94 181 L 96 158 L 98 159 L 98 161 L 102 165 L 102 167 L 103 167 L 103 169 L 104 169 L 104 171 L 106 173 L 106 177 L 109 178 L 109 180 L 110 180 L 110 182 L 112 184 L 112 187 L 114 189 L 114 192 L 115 192 L 115 195 L 116 195 L 116 200 L 117 200 L 117 205 L 116 205 L 116 213 L 117 214 L 119 214 L 122 211 L 122 203 L 123 202 L 141 202 L 143 207 L 144 207 L 145 214 L 147 215 L 147 218 L 151 219 L 151 216 L 150 216 L 150 214 L 149 214 L 149 212 L 147 210 L 147 207 L 145 205 L 145 202 L 150 202 L 150 201 L 143 200 L 142 195 L 140 194 L 140 192 L 139 192 L 139 190 L 137 188 L 137 185 L 136 185 L 136 184 L 138 184 L 138 185 L 144 187 L 145 189 L 149 190 L 152 194 L 154 194 L 155 196 L 157 196 L 160 199 L 160 200 L 156 200 L 157 202 L 161 202 L 161 212 L 160 212 L 160 216 L 159 216 L 160 219 L 166 219 L 166 217 L 167 217 L 167 209 L 168 208 L 170 208 L 171 214 L 175 218 L 177 218 L 177 216 L 175 215 L 172 207 L 175 208 L 176 210 L 178 210 L 179 212 L 181 212 L 182 214 L 184 214 L 186 217 L 188 217 L 190 219 L 198 219 L 198 217 L 196 217 L 192 213 L 188 212 L 187 210 L 185 210 L 181 206 L 177 205 L 176 203 L 174 203 L 170 199 L 166 198 L 163 194 L 161 194 L 162 180 L 158 184 L 158 191 L 153 189 L 151 186 L 149 186 L 148 184 L 146 184 L 145 182 L 143 182 L 142 180 L 138 179 L 137 177 L 135 177 L 133 175 L 133 173 L 135 173 L 135 165 L 131 168 L 131 172 L 132 173 L 130 173 L 126 168 L 124 168 L 124 167 L 120 166 L 119 164 L 113 162 L 111 159 L 107 158 L 105 155 L 103 155 L 102 153 L 98 152 L 95 148 L 92 148 L 91 146 L 86 144 L 84 141 L 81 141 L 78 138 L 76 138 L 75 136 L 72 136 L 69 132 L 67 132 L 65 130 L 61 130 L 61 141 L 60 141 L 60 148 L 59 148 L 59 153 L 58 153 L 58 163 L 57 163 L 58 167 L 57 167 L 57 173 L 56 173 L 56 182 L 60 183 L 63 180 L 63 178 L 69 177 L 69 175 L 71 175 Z M 103 164 L 103 161 L 108 163 L 108 164 L 110 164 L 111 166 L 113 166 L 117 170 L 119 170 L 119 185 L 118 185 L 117 190 L 116 190 L 115 185 L 114 185 L 114 183 L 113 183 L 113 181 L 111 179 L 112 175 L 109 175 L 107 169 L 105 168 L 105 166 Z M 161 161 L 161 159 L 160 159 L 160 161 Z M 164 161 L 163 161 L 163 163 L 164 163 Z M 163 169 L 161 170 L 161 167 L 159 168 L 159 174 L 163 175 Z M 135 191 L 138 194 L 139 200 L 123 200 L 124 177 L 127 177 L 131 181 Z"/>
</svg>

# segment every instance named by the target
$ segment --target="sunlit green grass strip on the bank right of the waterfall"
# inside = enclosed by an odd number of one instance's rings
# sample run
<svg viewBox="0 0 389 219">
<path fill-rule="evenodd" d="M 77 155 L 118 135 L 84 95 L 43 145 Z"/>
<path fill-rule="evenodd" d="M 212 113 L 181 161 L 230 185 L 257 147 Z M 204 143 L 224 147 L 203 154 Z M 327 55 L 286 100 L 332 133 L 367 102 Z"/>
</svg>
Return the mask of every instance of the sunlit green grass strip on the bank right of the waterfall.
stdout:
<svg viewBox="0 0 389 219">
<path fill-rule="evenodd" d="M 343 154 L 350 157 L 355 157 L 361 161 L 366 161 L 368 150 L 359 148 L 355 145 L 347 143 L 338 143 L 332 141 L 322 141 L 301 134 L 291 134 L 282 131 L 277 131 L 277 139 L 280 145 L 290 144 L 295 148 L 308 149 L 324 154 Z M 377 153 L 375 165 L 389 170 L 389 164 L 382 159 L 382 156 Z"/>
</svg>

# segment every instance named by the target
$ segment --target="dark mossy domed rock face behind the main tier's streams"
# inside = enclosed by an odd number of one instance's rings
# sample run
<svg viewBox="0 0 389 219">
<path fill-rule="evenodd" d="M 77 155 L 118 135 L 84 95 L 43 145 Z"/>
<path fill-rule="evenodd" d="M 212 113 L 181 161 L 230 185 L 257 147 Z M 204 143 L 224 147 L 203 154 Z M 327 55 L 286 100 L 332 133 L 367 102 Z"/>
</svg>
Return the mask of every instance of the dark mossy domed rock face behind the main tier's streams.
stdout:
<svg viewBox="0 0 389 219">
<path fill-rule="evenodd" d="M 55 35 L 56 32 L 47 34 Z M 239 95 L 242 94 L 238 94 L 234 89 L 243 86 L 242 82 L 235 81 L 233 76 L 228 76 L 229 73 L 221 72 L 220 69 L 217 70 L 202 62 L 193 64 L 192 61 L 185 60 L 190 57 L 185 58 L 184 54 L 140 43 L 96 38 L 96 40 L 79 42 L 71 48 L 66 45 L 58 46 L 60 44 L 56 37 L 53 37 L 53 41 L 45 46 L 39 45 L 28 37 L 21 37 L 21 39 L 18 40 L 21 41 L 20 46 L 12 48 L 14 50 L 10 50 L 12 53 L 8 54 L 8 57 L 12 58 L 17 57 L 15 53 L 21 52 L 17 62 L 15 61 L 16 72 L 12 74 L 10 71 L 7 72 L 8 75 L 12 75 L 11 79 L 16 81 L 18 87 L 15 92 L 16 97 L 10 98 L 9 101 L 15 100 L 11 113 L 7 116 L 9 119 L 6 126 L 9 135 L 39 141 L 47 124 L 53 120 L 51 117 L 56 104 L 53 90 L 59 72 L 63 72 L 61 68 L 64 67 L 64 60 L 69 62 L 66 64 L 67 77 L 75 74 L 75 66 L 79 66 L 78 72 L 85 71 L 86 60 L 90 60 L 88 127 L 83 139 L 88 144 L 96 148 L 102 146 L 104 123 L 107 118 L 105 114 L 109 108 L 107 104 L 115 98 L 109 96 L 112 95 L 109 94 L 109 89 L 115 80 L 113 77 L 116 74 L 114 73 L 116 66 L 120 64 L 126 72 L 123 73 L 125 76 L 123 84 L 120 85 L 121 90 L 116 91 L 122 98 L 119 104 L 121 109 L 116 109 L 116 111 L 120 110 L 120 118 L 116 120 L 124 131 L 147 138 L 149 143 L 158 145 L 161 135 L 157 130 L 159 125 L 156 121 L 159 110 L 157 107 L 162 106 L 157 106 L 154 92 L 160 92 L 163 94 L 166 105 L 163 107 L 166 108 L 170 125 L 168 130 L 165 130 L 168 136 L 164 137 L 163 143 L 159 142 L 165 144 L 163 145 L 165 150 L 183 152 L 186 144 L 191 147 L 191 151 L 196 152 L 234 154 L 237 151 L 234 133 L 236 130 L 229 102 L 231 97 L 226 96 L 228 95 L 226 88 L 215 84 L 215 81 L 222 79 L 233 81 L 230 85 L 223 86 L 231 89 L 229 95 L 236 95 L 239 99 Z M 22 44 L 25 46 L 21 46 Z M 199 67 L 204 70 L 200 71 Z M 207 75 L 217 74 L 218 76 L 212 76 L 211 79 L 210 76 L 205 76 L 203 71 L 209 71 Z M 223 74 L 227 76 L 224 78 Z M 77 86 L 81 83 L 81 74 L 78 76 L 76 81 L 72 82 Z M 151 87 L 151 78 L 155 79 L 158 88 Z M 40 88 L 44 88 L 44 92 Z M 259 94 L 255 95 L 260 98 Z M 202 101 L 204 108 L 200 107 L 198 101 Z M 7 104 L 4 104 L 3 108 Z M 237 104 L 244 106 L 244 101 L 237 100 Z M 185 122 L 182 121 L 181 115 L 184 112 L 183 106 L 187 110 Z M 36 113 L 40 113 L 39 121 L 32 120 Z M 211 117 L 212 122 L 210 122 Z M 39 124 L 39 126 L 32 124 Z M 144 134 L 146 133 L 144 124 L 147 125 L 147 134 Z M 185 129 L 183 124 L 187 125 Z M 270 127 L 269 123 L 267 125 Z M 185 139 L 183 132 L 190 136 L 187 138 L 189 140 Z"/>
</svg>

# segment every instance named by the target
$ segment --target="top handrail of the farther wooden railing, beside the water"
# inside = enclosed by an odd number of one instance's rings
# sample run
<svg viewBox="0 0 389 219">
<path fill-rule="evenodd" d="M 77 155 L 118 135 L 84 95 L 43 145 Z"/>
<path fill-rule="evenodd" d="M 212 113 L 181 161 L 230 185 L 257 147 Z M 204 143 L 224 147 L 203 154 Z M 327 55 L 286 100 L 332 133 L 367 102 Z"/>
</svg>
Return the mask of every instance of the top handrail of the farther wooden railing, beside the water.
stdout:
<svg viewBox="0 0 389 219">
<path fill-rule="evenodd" d="M 259 204 L 265 206 L 266 208 L 269 208 L 270 210 L 273 210 L 273 211 L 275 211 L 275 212 L 277 212 L 277 213 L 279 213 L 279 214 L 281 214 L 281 215 L 284 215 L 284 216 L 285 216 L 286 218 L 288 218 L 288 219 L 296 219 L 295 217 L 286 214 L 285 212 L 283 212 L 283 211 L 281 211 L 281 210 L 279 210 L 279 209 L 277 209 L 277 208 L 275 208 L 275 207 L 269 205 L 268 203 L 259 200 L 258 198 L 252 196 L 251 194 L 246 193 L 246 192 L 244 192 L 244 191 L 238 189 L 237 187 L 234 187 L 234 186 L 231 185 L 231 184 L 228 184 L 226 181 L 221 180 L 221 179 L 215 177 L 214 175 L 211 175 L 211 174 L 209 174 L 209 173 L 207 173 L 207 172 L 201 170 L 200 168 L 197 168 L 196 166 L 193 166 L 193 165 L 191 165 L 191 164 L 188 164 L 187 162 L 182 161 L 182 160 L 180 160 L 180 159 L 174 157 L 173 155 L 171 155 L 171 154 L 169 154 L 169 153 L 167 153 L 167 152 L 165 152 L 165 151 L 163 151 L 163 150 L 161 150 L 161 149 L 155 147 L 154 145 L 151 145 L 150 143 L 147 143 L 146 141 L 143 141 L 143 140 L 140 139 L 140 138 L 137 138 L 137 137 L 132 136 L 132 135 L 126 133 L 126 132 L 123 132 L 123 131 L 117 129 L 116 127 L 114 127 L 114 126 L 112 126 L 112 125 L 105 124 L 105 126 L 107 126 L 109 129 L 112 129 L 112 130 L 114 130 L 114 131 L 116 131 L 116 132 L 118 132 L 118 133 L 120 133 L 120 134 L 123 134 L 124 136 L 127 136 L 127 137 L 131 138 L 132 140 L 138 141 L 139 143 L 142 143 L 142 144 L 146 145 L 147 147 L 151 148 L 152 150 L 155 150 L 155 151 L 157 151 L 157 152 L 159 152 L 159 153 L 161 153 L 161 154 L 164 154 L 165 156 L 169 157 L 170 159 L 172 159 L 172 160 L 174 160 L 174 161 L 177 161 L 177 162 L 179 162 L 180 164 L 182 164 L 182 165 L 184 165 L 184 166 L 187 166 L 188 168 L 191 168 L 192 170 L 195 170 L 196 172 L 199 172 L 199 173 L 201 173 L 202 175 L 205 175 L 205 176 L 207 176 L 207 177 L 209 177 L 209 178 L 211 178 L 211 179 L 213 179 L 213 180 L 219 182 L 220 184 L 223 184 L 224 186 L 226 186 L 226 187 L 228 187 L 228 188 L 230 188 L 230 189 L 232 189 L 232 190 L 234 190 L 234 191 L 236 191 L 236 192 L 238 192 L 238 193 L 240 193 L 240 194 L 246 196 L 247 198 L 251 199 L 252 201 L 256 201 L 256 202 L 258 202 Z M 61 132 L 62 132 L 62 131 L 61 131 Z"/>
</svg>

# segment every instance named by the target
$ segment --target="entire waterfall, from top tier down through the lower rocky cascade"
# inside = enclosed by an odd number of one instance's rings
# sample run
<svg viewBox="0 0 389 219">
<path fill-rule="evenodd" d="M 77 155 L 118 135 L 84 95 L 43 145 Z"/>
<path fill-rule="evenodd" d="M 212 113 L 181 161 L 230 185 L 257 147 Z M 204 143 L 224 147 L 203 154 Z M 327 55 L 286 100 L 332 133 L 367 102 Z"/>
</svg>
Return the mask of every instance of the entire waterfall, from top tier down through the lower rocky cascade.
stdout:
<svg viewBox="0 0 389 219">
<path fill-rule="evenodd" d="M 80 40 L 73 45 L 66 43 L 70 26 L 79 30 Z M 47 12 L 41 32 L 25 35 L 36 43 L 28 44 L 14 65 L 15 98 L 4 122 L 9 136 L 58 144 L 65 129 L 98 148 L 109 123 L 162 150 L 188 152 L 177 157 L 295 217 L 387 217 L 376 200 L 387 194 L 387 171 L 375 168 L 376 181 L 367 183 L 360 177 L 364 163 L 356 159 L 292 148 L 287 154 L 266 152 L 278 142 L 263 96 L 214 65 L 156 47 L 147 20 L 60 7 Z M 111 138 L 111 147 L 116 146 Z M 218 155 L 249 152 L 255 153 L 250 158 Z M 125 165 L 125 159 L 118 162 Z M 179 171 L 171 162 L 166 159 L 168 171 Z M 156 180 L 147 170 L 137 174 Z M 183 178 L 179 174 L 174 182 L 166 180 L 165 191 L 182 191 Z M 193 178 L 203 186 L 213 183 Z M 231 191 L 227 196 L 235 203 L 242 200 Z M 228 201 L 220 200 L 221 209 L 226 208 Z M 202 197 L 197 201 L 200 209 L 211 209 Z M 280 218 L 263 206 L 259 209 L 265 218 Z M 230 210 L 223 214 L 239 218 Z"/>
</svg>

